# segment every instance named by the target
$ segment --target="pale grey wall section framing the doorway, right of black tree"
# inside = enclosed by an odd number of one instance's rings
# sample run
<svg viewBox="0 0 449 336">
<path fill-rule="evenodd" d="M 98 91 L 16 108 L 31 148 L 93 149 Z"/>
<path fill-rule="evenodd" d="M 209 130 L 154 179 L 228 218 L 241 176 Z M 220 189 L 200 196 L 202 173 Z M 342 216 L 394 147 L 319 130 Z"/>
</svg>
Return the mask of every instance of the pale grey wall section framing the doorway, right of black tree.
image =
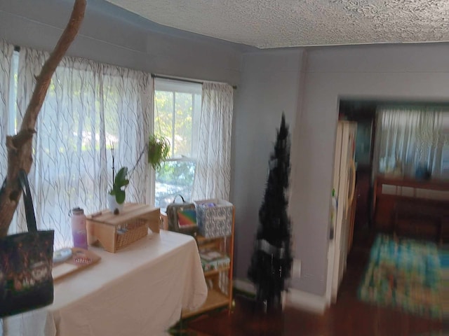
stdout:
<svg viewBox="0 0 449 336">
<path fill-rule="evenodd" d="M 302 113 L 290 212 L 302 277 L 291 286 L 316 295 L 326 290 L 330 192 L 340 97 L 448 101 L 449 44 L 364 45 L 307 52 Z M 291 206 L 294 204 L 294 207 Z"/>
</svg>

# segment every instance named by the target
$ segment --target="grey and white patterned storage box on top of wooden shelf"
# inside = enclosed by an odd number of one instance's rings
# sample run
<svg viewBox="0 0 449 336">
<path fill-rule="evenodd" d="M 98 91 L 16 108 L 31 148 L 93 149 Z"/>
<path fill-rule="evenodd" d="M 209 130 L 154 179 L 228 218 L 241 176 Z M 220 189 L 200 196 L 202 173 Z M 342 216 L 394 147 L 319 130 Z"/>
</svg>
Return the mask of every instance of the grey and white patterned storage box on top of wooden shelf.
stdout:
<svg viewBox="0 0 449 336">
<path fill-rule="evenodd" d="M 234 205 L 225 200 L 195 201 L 199 234 L 206 238 L 225 237 L 232 234 Z"/>
</svg>

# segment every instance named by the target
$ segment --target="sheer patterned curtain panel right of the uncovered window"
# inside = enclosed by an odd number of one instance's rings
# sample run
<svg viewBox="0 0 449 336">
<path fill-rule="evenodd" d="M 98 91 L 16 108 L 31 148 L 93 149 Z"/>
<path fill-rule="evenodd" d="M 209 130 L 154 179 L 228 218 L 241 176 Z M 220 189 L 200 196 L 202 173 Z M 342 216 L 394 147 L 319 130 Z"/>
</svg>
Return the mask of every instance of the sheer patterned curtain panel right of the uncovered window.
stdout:
<svg viewBox="0 0 449 336">
<path fill-rule="evenodd" d="M 203 83 L 192 200 L 229 200 L 233 95 L 231 85 Z"/>
</svg>

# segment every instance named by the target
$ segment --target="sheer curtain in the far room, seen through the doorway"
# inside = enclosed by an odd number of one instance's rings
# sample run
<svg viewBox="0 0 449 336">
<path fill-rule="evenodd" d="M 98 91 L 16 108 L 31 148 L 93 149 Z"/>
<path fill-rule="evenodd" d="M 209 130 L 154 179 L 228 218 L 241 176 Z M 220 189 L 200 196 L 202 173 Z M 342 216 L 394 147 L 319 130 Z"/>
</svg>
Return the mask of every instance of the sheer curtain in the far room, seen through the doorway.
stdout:
<svg viewBox="0 0 449 336">
<path fill-rule="evenodd" d="M 445 144 L 442 125 L 448 116 L 448 107 L 381 106 L 377 109 L 375 167 L 380 173 L 390 173 L 400 165 L 401 174 L 415 176 L 422 165 L 432 177 L 440 177 Z"/>
</svg>

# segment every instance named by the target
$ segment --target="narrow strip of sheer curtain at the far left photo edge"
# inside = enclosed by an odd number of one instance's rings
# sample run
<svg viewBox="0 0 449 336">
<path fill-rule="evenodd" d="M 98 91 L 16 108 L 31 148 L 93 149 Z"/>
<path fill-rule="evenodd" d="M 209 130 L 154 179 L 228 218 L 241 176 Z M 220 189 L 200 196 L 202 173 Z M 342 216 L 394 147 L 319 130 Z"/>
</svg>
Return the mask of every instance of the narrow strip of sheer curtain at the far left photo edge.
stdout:
<svg viewBox="0 0 449 336">
<path fill-rule="evenodd" d="M 6 176 L 8 155 L 6 152 L 6 135 L 11 135 L 8 129 L 11 84 L 11 64 L 14 47 L 0 39 L 0 183 Z"/>
</svg>

